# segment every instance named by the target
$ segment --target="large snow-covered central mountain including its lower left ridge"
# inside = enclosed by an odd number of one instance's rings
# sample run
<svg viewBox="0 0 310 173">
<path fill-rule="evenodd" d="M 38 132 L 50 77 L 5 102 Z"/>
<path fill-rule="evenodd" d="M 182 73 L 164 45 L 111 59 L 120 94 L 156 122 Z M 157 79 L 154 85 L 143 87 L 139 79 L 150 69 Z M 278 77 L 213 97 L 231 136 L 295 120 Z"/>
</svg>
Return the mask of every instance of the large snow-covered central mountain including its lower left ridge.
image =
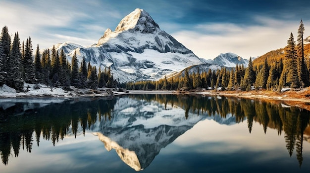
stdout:
<svg viewBox="0 0 310 173">
<path fill-rule="evenodd" d="M 171 72 L 204 62 L 191 50 L 160 30 L 158 24 L 143 9 L 136 9 L 124 17 L 115 31 L 107 29 L 97 44 L 83 47 L 65 43 L 59 45 L 67 59 L 76 52 L 97 69 L 110 67 L 120 82 L 155 80 Z"/>
</svg>

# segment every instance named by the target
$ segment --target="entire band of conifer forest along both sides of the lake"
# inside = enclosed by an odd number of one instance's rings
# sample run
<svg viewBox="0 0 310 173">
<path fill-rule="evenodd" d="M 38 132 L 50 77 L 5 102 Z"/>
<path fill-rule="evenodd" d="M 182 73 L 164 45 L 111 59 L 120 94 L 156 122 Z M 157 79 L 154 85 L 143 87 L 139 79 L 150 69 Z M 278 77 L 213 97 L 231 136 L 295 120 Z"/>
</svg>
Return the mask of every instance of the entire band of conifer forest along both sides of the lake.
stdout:
<svg viewBox="0 0 310 173">
<path fill-rule="evenodd" d="M 56 50 L 54 46 L 51 50 L 46 49 L 40 54 L 37 45 L 33 58 L 31 37 L 20 45 L 18 33 L 11 41 L 8 28 L 4 26 L 0 36 L 0 86 L 6 84 L 17 91 L 24 90 L 24 83 L 44 83 L 65 90 L 70 90 L 70 86 L 92 89 L 121 86 L 130 90 L 221 88 L 221 90 L 242 91 L 253 88 L 274 91 L 281 91 L 284 87 L 303 88 L 310 86 L 310 61 L 305 57 L 304 31 L 305 27 L 301 21 L 297 44 L 291 33 L 284 49 L 268 52 L 254 61 L 250 58 L 247 68 L 237 64 L 235 68 L 229 69 L 223 67 L 201 71 L 197 68 L 192 73 L 189 73 L 190 68 L 187 68 L 181 75 L 168 78 L 165 76 L 157 81 L 119 84 L 113 78 L 110 68 L 97 69 L 86 63 L 85 57 L 79 66 L 76 53 L 69 62 L 63 50 Z M 39 85 L 35 87 L 38 89 Z"/>
</svg>

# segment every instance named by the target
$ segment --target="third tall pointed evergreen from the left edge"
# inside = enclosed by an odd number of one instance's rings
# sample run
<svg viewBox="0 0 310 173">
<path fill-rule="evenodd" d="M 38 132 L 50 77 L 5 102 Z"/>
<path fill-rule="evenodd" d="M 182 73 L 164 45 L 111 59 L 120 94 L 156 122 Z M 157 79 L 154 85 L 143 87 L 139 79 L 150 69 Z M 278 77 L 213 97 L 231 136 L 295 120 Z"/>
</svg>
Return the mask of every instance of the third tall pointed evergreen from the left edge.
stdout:
<svg viewBox="0 0 310 173">
<path fill-rule="evenodd" d="M 35 66 L 32 59 L 32 43 L 31 38 L 26 41 L 25 52 L 24 52 L 24 72 L 25 72 L 25 82 L 36 83 L 36 73 Z"/>
</svg>

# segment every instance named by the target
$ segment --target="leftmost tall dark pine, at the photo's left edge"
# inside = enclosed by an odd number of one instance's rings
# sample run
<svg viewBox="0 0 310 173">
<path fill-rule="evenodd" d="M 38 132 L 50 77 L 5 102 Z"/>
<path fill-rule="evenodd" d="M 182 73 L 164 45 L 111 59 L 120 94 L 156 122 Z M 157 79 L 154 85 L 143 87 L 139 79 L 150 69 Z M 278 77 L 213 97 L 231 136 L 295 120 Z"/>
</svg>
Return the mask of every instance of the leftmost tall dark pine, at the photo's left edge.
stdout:
<svg viewBox="0 0 310 173">
<path fill-rule="evenodd" d="M 7 77 L 8 59 L 11 47 L 11 37 L 6 26 L 2 28 L 0 37 L 0 86 L 5 83 Z"/>
</svg>

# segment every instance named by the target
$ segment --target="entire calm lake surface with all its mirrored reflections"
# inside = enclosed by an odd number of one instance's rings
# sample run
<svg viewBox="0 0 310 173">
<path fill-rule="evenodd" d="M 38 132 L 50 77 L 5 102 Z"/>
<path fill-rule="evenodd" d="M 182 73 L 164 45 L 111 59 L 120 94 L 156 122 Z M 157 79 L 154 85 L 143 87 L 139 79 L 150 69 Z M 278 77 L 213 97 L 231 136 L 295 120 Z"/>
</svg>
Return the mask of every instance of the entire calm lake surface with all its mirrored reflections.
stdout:
<svg viewBox="0 0 310 173">
<path fill-rule="evenodd" d="M 218 96 L 1 99 L 0 173 L 309 173 L 309 124 Z"/>
</svg>

